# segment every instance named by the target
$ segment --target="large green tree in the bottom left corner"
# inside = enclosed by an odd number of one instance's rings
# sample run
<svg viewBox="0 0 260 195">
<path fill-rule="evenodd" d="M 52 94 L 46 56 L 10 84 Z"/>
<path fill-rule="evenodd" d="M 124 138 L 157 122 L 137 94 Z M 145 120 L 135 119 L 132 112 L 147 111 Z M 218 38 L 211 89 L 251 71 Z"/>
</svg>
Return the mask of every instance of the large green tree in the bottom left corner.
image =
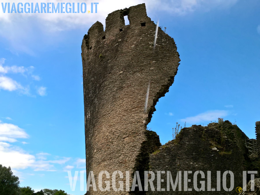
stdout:
<svg viewBox="0 0 260 195">
<path fill-rule="evenodd" d="M 7 168 L 0 164 L 0 194 L 18 195 L 19 184 L 19 178 L 13 174 L 10 166 Z"/>
</svg>

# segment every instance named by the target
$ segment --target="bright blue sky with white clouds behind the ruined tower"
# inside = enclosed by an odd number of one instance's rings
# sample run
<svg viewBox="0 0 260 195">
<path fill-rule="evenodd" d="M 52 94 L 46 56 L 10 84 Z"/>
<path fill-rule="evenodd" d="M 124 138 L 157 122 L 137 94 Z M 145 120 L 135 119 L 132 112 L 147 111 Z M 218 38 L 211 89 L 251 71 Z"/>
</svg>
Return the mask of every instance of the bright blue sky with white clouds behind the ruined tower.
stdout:
<svg viewBox="0 0 260 195">
<path fill-rule="evenodd" d="M 71 191 L 66 172 L 85 169 L 82 38 L 96 21 L 105 25 L 108 13 L 139 3 L 166 27 L 181 58 L 147 127 L 163 144 L 176 122 L 207 125 L 221 117 L 255 138 L 259 1 L 98 2 L 93 14 L 4 14 L 0 7 L 0 164 L 11 166 L 21 186 L 85 193 L 79 181 Z"/>
</svg>

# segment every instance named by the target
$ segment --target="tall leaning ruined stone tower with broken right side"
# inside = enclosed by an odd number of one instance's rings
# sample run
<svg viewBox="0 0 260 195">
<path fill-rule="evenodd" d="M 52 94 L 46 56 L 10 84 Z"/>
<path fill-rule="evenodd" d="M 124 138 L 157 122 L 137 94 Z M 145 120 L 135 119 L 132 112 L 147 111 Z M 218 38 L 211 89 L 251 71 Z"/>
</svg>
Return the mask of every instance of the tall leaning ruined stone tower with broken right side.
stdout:
<svg viewBox="0 0 260 195">
<path fill-rule="evenodd" d="M 180 59 L 173 38 L 160 28 L 153 49 L 155 29 L 140 4 L 108 14 L 105 31 L 97 21 L 83 38 L 86 169 L 96 180 L 102 170 L 110 177 L 120 170 L 125 183 L 125 171 L 130 171 L 131 189 L 133 171 L 148 170 L 148 150 L 160 145 L 155 133 L 147 134 L 146 125 L 172 85 Z M 87 194 L 102 193 L 91 190 Z M 128 194 L 125 186 L 118 194 Z"/>
</svg>

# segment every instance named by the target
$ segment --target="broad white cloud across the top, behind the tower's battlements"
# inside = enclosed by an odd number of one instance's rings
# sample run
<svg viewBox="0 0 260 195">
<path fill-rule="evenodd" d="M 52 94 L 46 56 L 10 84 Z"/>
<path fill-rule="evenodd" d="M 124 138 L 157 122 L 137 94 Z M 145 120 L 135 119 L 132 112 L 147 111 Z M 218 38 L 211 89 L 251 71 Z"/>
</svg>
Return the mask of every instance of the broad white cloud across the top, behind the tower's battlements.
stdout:
<svg viewBox="0 0 260 195">
<path fill-rule="evenodd" d="M 8 2 L 3 0 L 3 3 Z M 13 0 L 16 5 L 19 0 Z M 34 3 L 47 2 L 34 1 Z M 59 0 L 52 1 L 57 5 Z M 67 0 L 66 2 L 74 2 Z M 90 9 L 91 1 L 85 1 L 87 9 Z M 140 3 L 146 3 L 148 16 L 156 15 L 158 11 L 162 14 L 185 15 L 194 11 L 207 12 L 215 8 L 226 8 L 234 5 L 237 0 L 172 0 L 172 1 L 158 1 L 158 0 L 132 0 L 132 1 L 111 1 L 99 0 L 96 13 L 12 13 L 7 14 L 0 12 L 0 36 L 9 42 L 11 51 L 22 51 L 30 55 L 35 55 L 35 42 L 44 42 L 45 44 L 53 44 L 53 41 L 60 41 L 62 38 L 58 36 L 59 31 L 82 29 L 86 26 L 91 26 L 96 21 L 100 21 L 105 26 L 105 18 L 107 14 L 128 8 Z M 157 16 L 156 16 L 157 17 Z M 16 37 L 14 39 L 13 37 Z M 30 39 L 28 39 L 30 37 Z M 43 45 L 42 45 L 43 46 Z M 14 53 L 15 53 L 14 51 Z"/>
</svg>

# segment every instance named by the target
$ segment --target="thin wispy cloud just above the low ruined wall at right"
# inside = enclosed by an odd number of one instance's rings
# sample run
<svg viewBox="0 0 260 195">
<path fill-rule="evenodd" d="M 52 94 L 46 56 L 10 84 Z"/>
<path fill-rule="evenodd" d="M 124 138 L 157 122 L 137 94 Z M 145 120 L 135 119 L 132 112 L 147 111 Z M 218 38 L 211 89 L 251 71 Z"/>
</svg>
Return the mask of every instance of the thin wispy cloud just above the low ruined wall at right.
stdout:
<svg viewBox="0 0 260 195">
<path fill-rule="evenodd" d="M 204 122 L 204 121 L 214 121 L 217 120 L 220 117 L 227 116 L 228 112 L 226 110 L 213 110 L 213 111 L 207 111 L 201 114 L 198 114 L 196 116 L 187 117 L 184 119 L 181 119 L 181 122 L 187 122 L 187 123 L 197 123 L 197 122 Z"/>
</svg>

